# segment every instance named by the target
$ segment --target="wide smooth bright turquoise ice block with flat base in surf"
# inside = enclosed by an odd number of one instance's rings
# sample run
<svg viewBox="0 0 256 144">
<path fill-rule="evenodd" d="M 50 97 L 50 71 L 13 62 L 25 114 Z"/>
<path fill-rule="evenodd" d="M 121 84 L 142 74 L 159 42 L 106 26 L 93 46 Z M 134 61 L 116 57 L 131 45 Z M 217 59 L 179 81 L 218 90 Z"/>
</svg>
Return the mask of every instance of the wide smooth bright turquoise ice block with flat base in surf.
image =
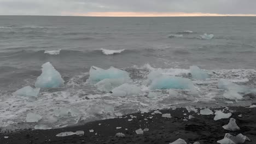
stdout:
<svg viewBox="0 0 256 144">
<path fill-rule="evenodd" d="M 177 76 L 163 75 L 155 77 L 149 86 L 150 89 L 193 89 L 193 82 L 189 79 Z"/>
</svg>

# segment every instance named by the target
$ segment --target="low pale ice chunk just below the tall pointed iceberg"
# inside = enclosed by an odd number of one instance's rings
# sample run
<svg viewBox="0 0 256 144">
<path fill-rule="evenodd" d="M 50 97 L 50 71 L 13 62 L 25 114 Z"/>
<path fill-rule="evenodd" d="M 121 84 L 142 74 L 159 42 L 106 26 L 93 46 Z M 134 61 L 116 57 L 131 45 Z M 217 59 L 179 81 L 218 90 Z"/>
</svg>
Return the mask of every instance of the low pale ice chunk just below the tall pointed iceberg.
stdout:
<svg viewBox="0 0 256 144">
<path fill-rule="evenodd" d="M 18 89 L 13 95 L 19 95 L 23 97 L 37 97 L 39 94 L 40 88 L 32 88 L 31 86 L 26 86 L 21 89 Z"/>
</svg>

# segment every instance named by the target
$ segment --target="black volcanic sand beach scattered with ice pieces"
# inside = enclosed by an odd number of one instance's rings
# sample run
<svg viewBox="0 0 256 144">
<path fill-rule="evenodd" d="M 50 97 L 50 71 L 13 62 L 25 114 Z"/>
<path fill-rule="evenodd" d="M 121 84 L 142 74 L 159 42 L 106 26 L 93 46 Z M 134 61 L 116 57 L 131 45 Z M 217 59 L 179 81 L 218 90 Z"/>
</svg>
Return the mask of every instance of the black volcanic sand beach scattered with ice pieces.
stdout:
<svg viewBox="0 0 256 144">
<path fill-rule="evenodd" d="M 217 143 L 218 140 L 223 139 L 225 133 L 236 135 L 242 133 L 251 139 L 251 143 L 256 142 L 256 108 L 245 107 L 229 107 L 233 110 L 232 118 L 236 119 L 237 125 L 241 128 L 239 131 L 227 131 L 222 128 L 223 125 L 229 123 L 229 119 L 220 119 L 214 121 L 214 115 L 203 116 L 197 113 L 190 112 L 183 108 L 176 110 L 160 110 L 162 113 L 171 113 L 172 118 L 163 118 L 160 114 L 151 115 L 145 113 L 133 113 L 132 121 L 130 115 L 127 118 L 106 119 L 103 121 L 90 122 L 84 125 L 67 127 L 62 129 L 51 130 L 23 130 L 15 133 L 0 134 L 0 144 L 26 144 L 26 143 L 161 143 L 168 144 L 177 140 L 184 139 L 188 143 L 199 141 L 201 144 Z M 184 111 L 184 112 L 183 112 Z M 183 115 L 187 113 L 187 115 Z M 242 114 L 242 118 L 238 115 Z M 195 116 L 189 119 L 188 122 L 183 121 L 183 118 L 188 118 L 189 115 Z M 152 119 L 147 117 L 153 116 Z M 147 118 L 148 121 L 144 120 Z M 101 125 L 98 125 L 101 123 Z M 116 129 L 116 127 L 122 127 Z M 127 128 L 128 130 L 125 130 Z M 149 128 L 149 131 L 144 132 L 143 135 L 137 135 L 135 130 L 139 128 Z M 94 133 L 89 130 L 94 129 Z M 66 136 L 57 137 L 56 134 L 65 131 L 85 131 L 84 136 Z M 95 135 L 97 133 L 97 135 Z M 124 133 L 126 137 L 115 137 L 116 133 Z M 9 136 L 4 139 L 4 136 Z"/>
</svg>

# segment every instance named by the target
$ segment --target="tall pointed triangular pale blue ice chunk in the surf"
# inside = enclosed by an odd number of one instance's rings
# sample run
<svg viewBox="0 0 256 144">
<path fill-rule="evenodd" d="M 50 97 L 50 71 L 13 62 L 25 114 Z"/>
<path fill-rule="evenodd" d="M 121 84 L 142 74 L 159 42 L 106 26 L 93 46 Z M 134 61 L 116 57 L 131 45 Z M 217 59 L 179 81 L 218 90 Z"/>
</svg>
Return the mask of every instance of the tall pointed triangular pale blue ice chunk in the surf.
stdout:
<svg viewBox="0 0 256 144">
<path fill-rule="evenodd" d="M 47 62 L 42 65 L 42 74 L 37 77 L 37 81 L 34 86 L 39 88 L 56 88 L 62 87 L 64 81 L 61 78 L 60 73 L 51 65 L 50 62 Z"/>
</svg>

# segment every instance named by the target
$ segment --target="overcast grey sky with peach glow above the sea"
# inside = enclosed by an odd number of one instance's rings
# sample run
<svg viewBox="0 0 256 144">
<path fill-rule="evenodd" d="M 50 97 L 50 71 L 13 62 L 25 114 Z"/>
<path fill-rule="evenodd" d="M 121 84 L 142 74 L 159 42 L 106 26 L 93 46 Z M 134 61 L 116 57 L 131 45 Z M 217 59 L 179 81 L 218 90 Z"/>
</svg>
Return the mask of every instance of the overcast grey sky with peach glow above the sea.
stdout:
<svg viewBox="0 0 256 144">
<path fill-rule="evenodd" d="M 0 15 L 256 16 L 256 0 L 0 0 Z"/>
</svg>

